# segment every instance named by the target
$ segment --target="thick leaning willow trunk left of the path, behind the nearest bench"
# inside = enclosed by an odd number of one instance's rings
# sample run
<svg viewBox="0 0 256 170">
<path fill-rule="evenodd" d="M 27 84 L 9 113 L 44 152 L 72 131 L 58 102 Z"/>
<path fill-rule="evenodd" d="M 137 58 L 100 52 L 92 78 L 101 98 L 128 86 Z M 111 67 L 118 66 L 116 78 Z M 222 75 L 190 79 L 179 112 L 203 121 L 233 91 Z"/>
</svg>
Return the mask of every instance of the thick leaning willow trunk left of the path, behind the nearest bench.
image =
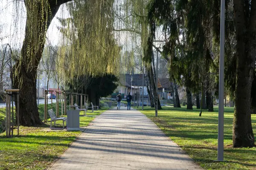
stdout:
<svg viewBox="0 0 256 170">
<path fill-rule="evenodd" d="M 49 0 L 49 4 L 45 5 L 47 7 L 42 6 L 41 1 L 25 1 L 25 39 L 21 48 L 21 58 L 13 66 L 11 75 L 13 88 L 20 89 L 20 125 L 43 124 L 36 103 L 36 70 L 44 50 L 45 33 L 60 5 L 68 1 L 70 0 Z M 35 6 L 38 6 L 38 11 L 33 11 Z M 17 106 L 17 99 L 15 105 Z"/>
</svg>

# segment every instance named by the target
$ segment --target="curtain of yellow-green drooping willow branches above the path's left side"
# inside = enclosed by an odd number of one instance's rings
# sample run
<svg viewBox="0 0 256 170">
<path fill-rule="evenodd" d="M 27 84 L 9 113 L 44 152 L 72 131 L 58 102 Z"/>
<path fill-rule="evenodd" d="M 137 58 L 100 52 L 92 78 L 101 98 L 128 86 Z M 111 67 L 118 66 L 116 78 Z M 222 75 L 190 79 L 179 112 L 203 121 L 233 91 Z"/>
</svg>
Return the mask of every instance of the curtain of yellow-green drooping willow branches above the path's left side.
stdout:
<svg viewBox="0 0 256 170">
<path fill-rule="evenodd" d="M 65 77 L 119 74 L 119 46 L 113 37 L 112 0 L 76 1 L 67 4 L 71 18 L 60 19 L 65 39 L 59 64 Z"/>
</svg>

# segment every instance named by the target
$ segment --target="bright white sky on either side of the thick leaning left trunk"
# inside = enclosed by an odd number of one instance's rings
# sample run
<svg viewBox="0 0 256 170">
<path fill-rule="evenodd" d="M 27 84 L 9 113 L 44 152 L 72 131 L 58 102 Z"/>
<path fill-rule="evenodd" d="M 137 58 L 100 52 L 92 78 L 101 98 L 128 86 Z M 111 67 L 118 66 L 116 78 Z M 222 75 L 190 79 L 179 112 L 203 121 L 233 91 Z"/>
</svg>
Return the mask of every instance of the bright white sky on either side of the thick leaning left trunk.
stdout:
<svg viewBox="0 0 256 170">
<path fill-rule="evenodd" d="M 57 45 L 60 26 L 56 17 L 68 17 L 66 7 L 62 5 L 47 31 L 47 38 L 52 45 Z M 0 0 L 0 45 L 9 43 L 12 47 L 21 48 L 24 39 L 26 25 L 26 8 L 24 2 L 20 1 L 17 6 L 13 0 Z"/>
</svg>

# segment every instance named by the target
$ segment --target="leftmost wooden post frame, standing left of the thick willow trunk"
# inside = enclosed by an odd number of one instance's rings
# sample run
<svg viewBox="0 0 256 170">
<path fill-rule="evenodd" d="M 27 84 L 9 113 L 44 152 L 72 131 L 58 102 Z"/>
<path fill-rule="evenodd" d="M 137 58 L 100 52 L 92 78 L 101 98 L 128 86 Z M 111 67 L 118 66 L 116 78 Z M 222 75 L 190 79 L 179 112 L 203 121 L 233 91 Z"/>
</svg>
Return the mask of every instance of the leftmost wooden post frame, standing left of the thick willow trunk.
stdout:
<svg viewBox="0 0 256 170">
<path fill-rule="evenodd" d="M 13 95 L 17 95 L 17 136 L 19 136 L 19 100 L 20 100 L 20 89 L 5 89 L 6 91 L 6 137 L 13 136 L 13 124 L 14 124 L 14 111 L 13 111 Z M 11 100 L 12 100 L 12 113 L 11 113 Z M 12 121 L 12 122 L 11 122 Z M 12 126 L 12 129 L 11 129 Z"/>
</svg>

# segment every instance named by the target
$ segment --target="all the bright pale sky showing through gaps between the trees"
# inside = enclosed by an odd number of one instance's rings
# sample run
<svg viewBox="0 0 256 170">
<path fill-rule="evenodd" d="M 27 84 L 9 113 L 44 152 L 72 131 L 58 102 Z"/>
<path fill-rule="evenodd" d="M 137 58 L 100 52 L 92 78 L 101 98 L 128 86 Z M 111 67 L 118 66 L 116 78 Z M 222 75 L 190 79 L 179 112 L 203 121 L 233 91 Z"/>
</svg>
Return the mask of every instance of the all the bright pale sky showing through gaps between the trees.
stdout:
<svg viewBox="0 0 256 170">
<path fill-rule="evenodd" d="M 12 48 L 21 48 L 24 39 L 24 30 L 26 25 L 26 8 L 24 6 L 23 0 L 15 3 L 16 0 L 0 0 L 0 46 L 9 43 Z M 119 0 L 116 0 L 116 6 L 120 4 Z M 117 11 L 120 15 L 123 14 L 122 11 Z M 65 5 L 61 5 L 57 14 L 53 18 L 51 25 L 47 31 L 47 42 L 51 45 L 58 45 L 61 43 L 61 34 L 57 29 L 60 23 L 57 17 L 67 18 L 70 17 Z M 118 25 L 122 26 L 122 22 Z M 161 28 L 160 28 L 161 29 Z M 160 30 L 156 31 L 157 40 L 163 39 L 163 34 Z M 128 32 L 116 32 L 115 34 L 117 43 L 125 47 L 124 51 L 130 51 L 136 45 L 131 44 L 131 34 Z M 140 46 L 140 36 L 133 38 L 133 43 L 135 42 L 137 46 Z M 157 47 L 161 46 L 161 43 L 156 42 Z"/>
</svg>

